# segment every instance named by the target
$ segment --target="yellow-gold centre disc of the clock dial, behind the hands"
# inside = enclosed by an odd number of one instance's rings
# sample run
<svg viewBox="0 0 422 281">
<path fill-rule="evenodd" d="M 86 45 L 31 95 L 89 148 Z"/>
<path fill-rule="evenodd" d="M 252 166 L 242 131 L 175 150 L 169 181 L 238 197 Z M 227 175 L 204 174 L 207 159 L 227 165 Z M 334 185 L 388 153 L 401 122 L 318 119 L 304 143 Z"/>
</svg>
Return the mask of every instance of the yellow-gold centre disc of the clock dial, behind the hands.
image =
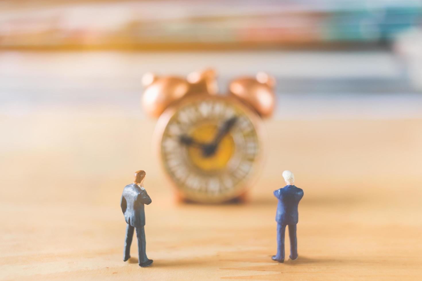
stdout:
<svg viewBox="0 0 422 281">
<path fill-rule="evenodd" d="M 215 124 L 202 124 L 193 129 L 191 136 L 195 141 L 211 143 L 218 131 Z M 235 143 L 230 133 L 226 134 L 212 155 L 204 155 L 200 147 L 189 147 L 188 155 L 192 163 L 203 171 L 225 169 L 235 150 Z"/>
</svg>

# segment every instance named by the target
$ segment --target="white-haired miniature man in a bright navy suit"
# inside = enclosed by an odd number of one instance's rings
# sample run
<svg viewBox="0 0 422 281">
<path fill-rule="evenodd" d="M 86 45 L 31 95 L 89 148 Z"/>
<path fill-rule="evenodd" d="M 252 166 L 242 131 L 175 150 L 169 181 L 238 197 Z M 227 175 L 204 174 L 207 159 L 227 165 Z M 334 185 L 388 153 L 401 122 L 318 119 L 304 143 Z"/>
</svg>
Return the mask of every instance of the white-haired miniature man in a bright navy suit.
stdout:
<svg viewBox="0 0 422 281">
<path fill-rule="evenodd" d="M 298 205 L 303 197 L 303 190 L 295 187 L 295 176 L 291 171 L 283 172 L 286 186 L 274 191 L 274 196 L 279 199 L 277 206 L 277 254 L 272 257 L 273 260 L 284 262 L 284 233 L 286 226 L 289 226 L 290 238 L 290 259 L 298 258 L 298 240 L 296 238 L 296 224 L 298 223 Z"/>
</svg>

